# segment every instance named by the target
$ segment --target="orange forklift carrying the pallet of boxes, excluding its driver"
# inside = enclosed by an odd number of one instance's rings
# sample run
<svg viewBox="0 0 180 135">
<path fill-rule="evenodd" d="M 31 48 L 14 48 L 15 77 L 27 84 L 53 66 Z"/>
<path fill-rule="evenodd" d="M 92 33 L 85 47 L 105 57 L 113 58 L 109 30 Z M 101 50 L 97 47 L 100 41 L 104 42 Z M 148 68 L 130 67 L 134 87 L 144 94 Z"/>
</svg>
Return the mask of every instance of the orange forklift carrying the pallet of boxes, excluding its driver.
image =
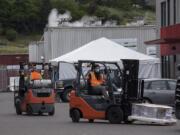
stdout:
<svg viewBox="0 0 180 135">
<path fill-rule="evenodd" d="M 99 65 L 101 73 L 106 76 L 103 86 L 108 92 L 109 99 L 101 94 L 89 92 L 87 73 L 91 72 L 93 65 Z M 78 61 L 76 69 L 77 78 L 69 103 L 72 122 L 79 122 L 81 118 L 89 122 L 94 122 L 95 119 L 108 120 L 112 124 L 132 122 L 128 120 L 132 104 L 142 103 L 143 99 L 143 85 L 138 86 L 138 60 L 122 60 L 121 64 Z"/>
</svg>

